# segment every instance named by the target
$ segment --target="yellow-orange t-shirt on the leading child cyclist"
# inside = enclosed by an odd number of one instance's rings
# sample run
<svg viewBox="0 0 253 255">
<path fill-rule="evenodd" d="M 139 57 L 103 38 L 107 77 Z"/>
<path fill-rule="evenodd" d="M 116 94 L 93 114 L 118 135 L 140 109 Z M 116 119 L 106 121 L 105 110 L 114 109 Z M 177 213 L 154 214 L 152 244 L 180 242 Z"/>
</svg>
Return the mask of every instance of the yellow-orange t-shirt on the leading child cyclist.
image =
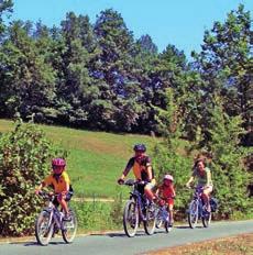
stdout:
<svg viewBox="0 0 253 255">
<path fill-rule="evenodd" d="M 68 191 L 67 185 L 70 185 L 70 180 L 66 171 L 63 171 L 58 178 L 54 177 L 54 174 L 51 174 L 43 180 L 43 182 L 45 185 L 52 185 L 56 193 Z"/>
</svg>

